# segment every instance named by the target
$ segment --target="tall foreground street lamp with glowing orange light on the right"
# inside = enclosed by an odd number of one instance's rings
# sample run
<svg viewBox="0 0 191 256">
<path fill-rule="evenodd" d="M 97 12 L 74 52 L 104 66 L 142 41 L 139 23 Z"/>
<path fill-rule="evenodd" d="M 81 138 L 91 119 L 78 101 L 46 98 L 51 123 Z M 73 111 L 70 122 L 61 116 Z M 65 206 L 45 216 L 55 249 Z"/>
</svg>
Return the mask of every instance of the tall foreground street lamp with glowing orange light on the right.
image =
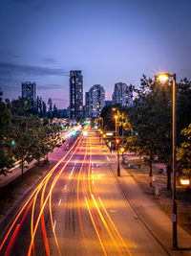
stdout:
<svg viewBox="0 0 191 256">
<path fill-rule="evenodd" d="M 178 239 L 177 239 L 177 157 L 176 157 L 176 148 L 177 148 L 177 113 L 176 113 L 176 74 L 170 75 L 159 74 L 156 77 L 159 81 L 168 81 L 170 78 L 173 78 L 173 249 L 178 248 Z"/>
</svg>

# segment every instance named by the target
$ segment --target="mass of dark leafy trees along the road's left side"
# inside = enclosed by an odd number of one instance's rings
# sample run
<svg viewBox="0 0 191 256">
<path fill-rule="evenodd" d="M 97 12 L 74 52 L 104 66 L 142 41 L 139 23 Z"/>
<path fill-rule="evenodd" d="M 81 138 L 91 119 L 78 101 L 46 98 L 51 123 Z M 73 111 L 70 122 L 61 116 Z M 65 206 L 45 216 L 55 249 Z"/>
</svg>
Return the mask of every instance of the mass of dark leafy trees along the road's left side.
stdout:
<svg viewBox="0 0 191 256">
<path fill-rule="evenodd" d="M 33 108 L 27 98 L 4 102 L 0 92 L 0 175 L 7 175 L 18 161 L 23 176 L 24 168 L 32 160 L 40 164 L 48 152 L 60 146 L 57 137 L 60 127 L 47 118 L 52 109 L 40 118 L 32 114 Z"/>
</svg>

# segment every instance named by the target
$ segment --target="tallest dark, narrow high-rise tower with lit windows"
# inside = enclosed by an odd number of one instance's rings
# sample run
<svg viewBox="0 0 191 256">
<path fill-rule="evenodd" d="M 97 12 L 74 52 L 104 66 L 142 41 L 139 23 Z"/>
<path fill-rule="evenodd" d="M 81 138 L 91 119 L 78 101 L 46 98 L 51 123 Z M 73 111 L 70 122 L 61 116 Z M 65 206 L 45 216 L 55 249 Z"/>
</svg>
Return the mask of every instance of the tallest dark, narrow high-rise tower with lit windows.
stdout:
<svg viewBox="0 0 191 256">
<path fill-rule="evenodd" d="M 83 117 L 83 76 L 81 70 L 70 71 L 70 118 Z"/>
</svg>

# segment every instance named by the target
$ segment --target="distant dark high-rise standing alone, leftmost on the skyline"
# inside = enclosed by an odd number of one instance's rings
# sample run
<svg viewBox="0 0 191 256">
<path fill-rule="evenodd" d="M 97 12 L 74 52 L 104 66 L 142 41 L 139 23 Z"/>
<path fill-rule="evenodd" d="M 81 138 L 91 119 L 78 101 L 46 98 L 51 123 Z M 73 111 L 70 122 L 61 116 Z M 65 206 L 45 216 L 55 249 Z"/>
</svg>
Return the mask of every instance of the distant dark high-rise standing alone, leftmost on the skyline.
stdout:
<svg viewBox="0 0 191 256">
<path fill-rule="evenodd" d="M 28 98 L 32 105 L 36 100 L 36 83 L 31 81 L 25 81 L 21 84 L 22 97 Z"/>
</svg>

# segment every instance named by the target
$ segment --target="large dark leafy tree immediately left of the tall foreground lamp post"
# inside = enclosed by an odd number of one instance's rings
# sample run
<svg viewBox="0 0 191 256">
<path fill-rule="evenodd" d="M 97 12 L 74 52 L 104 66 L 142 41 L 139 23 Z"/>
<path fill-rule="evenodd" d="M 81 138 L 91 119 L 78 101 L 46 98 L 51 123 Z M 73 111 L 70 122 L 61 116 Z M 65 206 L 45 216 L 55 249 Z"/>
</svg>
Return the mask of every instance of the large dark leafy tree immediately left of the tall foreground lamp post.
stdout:
<svg viewBox="0 0 191 256">
<path fill-rule="evenodd" d="M 148 155 L 144 161 L 149 166 L 150 176 L 157 158 L 172 166 L 171 159 L 166 157 L 166 153 L 171 155 L 169 151 L 172 151 L 171 146 L 169 147 L 169 141 L 172 141 L 169 88 L 168 84 L 161 86 L 159 82 L 143 76 L 141 86 L 136 90 L 136 105 L 131 107 L 128 113 L 132 128 L 138 133 L 138 138 L 132 140 L 131 147 L 136 148 L 138 153 Z"/>
</svg>

